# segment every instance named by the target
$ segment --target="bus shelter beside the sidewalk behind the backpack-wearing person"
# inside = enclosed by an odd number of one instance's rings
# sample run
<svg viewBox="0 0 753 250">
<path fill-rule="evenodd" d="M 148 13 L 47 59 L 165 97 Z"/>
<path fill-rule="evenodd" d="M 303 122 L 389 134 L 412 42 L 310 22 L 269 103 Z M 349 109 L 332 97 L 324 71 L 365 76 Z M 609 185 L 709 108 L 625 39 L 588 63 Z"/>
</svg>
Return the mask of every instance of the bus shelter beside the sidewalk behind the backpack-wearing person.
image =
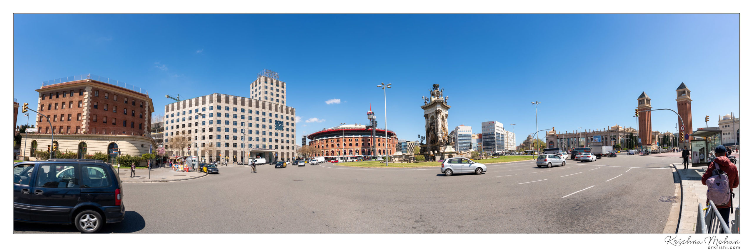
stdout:
<svg viewBox="0 0 753 250">
<path fill-rule="evenodd" d="M 714 154 L 714 148 L 721 145 L 721 129 L 698 128 L 690 134 L 691 163 L 693 167 L 709 165 L 709 157 Z"/>
</svg>

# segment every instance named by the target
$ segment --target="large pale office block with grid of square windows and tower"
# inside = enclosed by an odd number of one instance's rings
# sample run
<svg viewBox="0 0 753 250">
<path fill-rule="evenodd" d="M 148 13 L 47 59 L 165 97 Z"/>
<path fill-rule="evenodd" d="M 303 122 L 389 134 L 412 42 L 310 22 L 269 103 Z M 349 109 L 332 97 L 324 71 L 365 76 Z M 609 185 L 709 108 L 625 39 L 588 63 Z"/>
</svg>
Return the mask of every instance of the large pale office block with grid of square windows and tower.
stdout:
<svg viewBox="0 0 753 250">
<path fill-rule="evenodd" d="M 295 158 L 295 109 L 285 105 L 286 83 L 262 71 L 252 98 L 214 93 L 165 105 L 168 155 L 247 162 Z M 190 149 L 188 146 L 191 146 Z"/>
</svg>

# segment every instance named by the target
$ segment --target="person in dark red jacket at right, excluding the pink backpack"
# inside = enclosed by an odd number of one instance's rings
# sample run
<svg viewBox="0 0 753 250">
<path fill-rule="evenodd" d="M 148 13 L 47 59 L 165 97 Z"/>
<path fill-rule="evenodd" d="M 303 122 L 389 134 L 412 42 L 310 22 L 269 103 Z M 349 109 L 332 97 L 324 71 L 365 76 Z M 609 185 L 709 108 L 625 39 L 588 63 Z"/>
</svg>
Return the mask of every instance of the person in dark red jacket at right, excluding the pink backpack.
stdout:
<svg viewBox="0 0 753 250">
<path fill-rule="evenodd" d="M 725 174 L 727 174 L 727 179 L 729 180 L 728 184 L 730 185 L 729 200 L 714 200 L 714 204 L 721 214 L 721 218 L 724 218 L 724 222 L 729 225 L 730 212 L 732 210 L 732 198 L 735 197 L 735 193 L 733 192 L 732 188 L 736 188 L 740 184 L 740 179 L 737 173 L 737 167 L 735 166 L 735 164 L 732 164 L 730 158 L 727 158 L 726 156 L 727 149 L 724 149 L 724 146 L 719 145 L 714 149 L 714 153 L 716 155 L 716 159 L 709 163 L 709 167 L 706 169 L 706 173 L 703 173 L 703 176 L 701 176 L 701 183 L 703 183 L 703 185 L 706 185 L 706 179 L 709 179 L 709 177 L 712 176 L 712 172 L 714 172 L 717 167 L 719 168 L 719 170 L 722 170 Z M 710 191 L 712 191 L 711 187 L 709 187 L 709 192 Z M 708 196 L 706 197 L 706 203 L 709 203 Z"/>
</svg>

